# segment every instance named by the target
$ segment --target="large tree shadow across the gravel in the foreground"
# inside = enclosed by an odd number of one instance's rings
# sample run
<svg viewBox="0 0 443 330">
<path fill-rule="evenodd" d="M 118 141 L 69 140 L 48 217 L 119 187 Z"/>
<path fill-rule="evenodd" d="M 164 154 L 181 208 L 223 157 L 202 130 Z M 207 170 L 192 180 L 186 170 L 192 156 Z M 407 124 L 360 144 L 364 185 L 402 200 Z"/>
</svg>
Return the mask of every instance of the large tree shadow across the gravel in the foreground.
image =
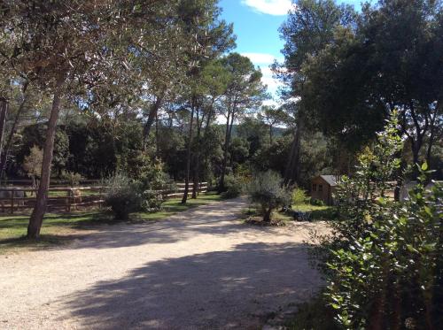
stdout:
<svg viewBox="0 0 443 330">
<path fill-rule="evenodd" d="M 94 329 L 253 329 L 320 284 L 303 245 L 244 243 L 148 263 L 58 303 Z"/>
</svg>

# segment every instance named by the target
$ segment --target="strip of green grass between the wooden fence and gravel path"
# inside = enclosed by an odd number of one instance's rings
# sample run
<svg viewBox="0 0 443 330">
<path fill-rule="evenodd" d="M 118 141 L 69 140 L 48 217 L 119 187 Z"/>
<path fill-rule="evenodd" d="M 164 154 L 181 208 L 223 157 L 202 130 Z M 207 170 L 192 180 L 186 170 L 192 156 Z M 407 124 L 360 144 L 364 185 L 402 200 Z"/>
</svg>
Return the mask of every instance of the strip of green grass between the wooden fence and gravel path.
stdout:
<svg viewBox="0 0 443 330">
<path fill-rule="evenodd" d="M 198 196 L 197 199 L 188 199 L 182 204 L 180 198 L 173 198 L 163 203 L 163 209 L 157 212 L 136 212 L 131 214 L 130 221 L 154 221 L 206 203 L 220 201 L 221 196 L 208 194 Z M 104 223 L 115 223 L 109 211 L 79 211 L 72 213 L 47 213 L 43 219 L 41 238 L 38 241 L 29 241 L 27 223 L 29 215 L 14 215 L 0 217 L 0 254 L 11 250 L 43 249 L 53 245 L 60 245 L 71 241 L 82 230 L 91 229 Z M 80 233 L 79 233 L 80 232 Z"/>
</svg>

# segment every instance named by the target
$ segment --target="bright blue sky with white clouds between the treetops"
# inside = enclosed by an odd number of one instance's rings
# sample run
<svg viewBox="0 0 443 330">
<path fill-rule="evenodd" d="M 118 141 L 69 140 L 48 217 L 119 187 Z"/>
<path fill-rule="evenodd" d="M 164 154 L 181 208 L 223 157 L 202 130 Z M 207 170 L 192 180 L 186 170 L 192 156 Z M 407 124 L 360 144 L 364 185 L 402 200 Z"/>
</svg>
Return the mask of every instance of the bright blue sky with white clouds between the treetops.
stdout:
<svg viewBox="0 0 443 330">
<path fill-rule="evenodd" d="M 338 0 L 338 3 L 354 4 L 360 8 L 361 0 Z M 280 39 L 278 28 L 291 9 L 291 0 L 220 0 L 222 19 L 234 23 L 237 35 L 235 51 L 251 58 L 254 65 L 260 66 L 263 83 L 276 97 L 279 82 L 272 78 L 269 69 L 275 59 L 282 60 L 280 50 L 284 42 Z"/>
</svg>

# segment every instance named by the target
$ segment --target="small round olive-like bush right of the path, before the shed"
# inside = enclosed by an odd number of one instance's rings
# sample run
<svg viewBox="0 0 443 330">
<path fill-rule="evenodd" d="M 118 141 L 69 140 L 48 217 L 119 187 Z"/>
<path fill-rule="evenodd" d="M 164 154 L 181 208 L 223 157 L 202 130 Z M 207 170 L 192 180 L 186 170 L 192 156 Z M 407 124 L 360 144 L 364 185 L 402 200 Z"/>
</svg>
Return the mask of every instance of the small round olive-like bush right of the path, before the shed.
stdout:
<svg viewBox="0 0 443 330">
<path fill-rule="evenodd" d="M 283 185 L 280 174 L 272 171 L 256 174 L 247 185 L 247 191 L 251 200 L 260 204 L 266 222 L 271 222 L 272 212 L 277 207 L 291 203 L 291 190 Z"/>
</svg>

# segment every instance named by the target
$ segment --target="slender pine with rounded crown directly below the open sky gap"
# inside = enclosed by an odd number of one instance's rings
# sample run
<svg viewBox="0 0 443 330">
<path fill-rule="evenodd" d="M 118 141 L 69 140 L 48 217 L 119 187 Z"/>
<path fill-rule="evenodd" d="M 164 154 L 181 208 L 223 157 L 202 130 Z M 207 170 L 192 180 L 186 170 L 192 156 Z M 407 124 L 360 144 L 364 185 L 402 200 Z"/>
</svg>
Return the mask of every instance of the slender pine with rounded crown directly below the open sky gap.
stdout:
<svg viewBox="0 0 443 330">
<path fill-rule="evenodd" d="M 234 121 L 245 111 L 258 106 L 265 97 L 265 88 L 261 84 L 261 72 L 253 66 L 249 58 L 237 53 L 231 53 L 221 59 L 229 72 L 229 83 L 222 98 L 224 115 L 226 117 L 225 140 L 223 148 L 223 163 L 219 189 L 224 189 L 224 176 L 228 163 L 229 142 Z"/>
</svg>

